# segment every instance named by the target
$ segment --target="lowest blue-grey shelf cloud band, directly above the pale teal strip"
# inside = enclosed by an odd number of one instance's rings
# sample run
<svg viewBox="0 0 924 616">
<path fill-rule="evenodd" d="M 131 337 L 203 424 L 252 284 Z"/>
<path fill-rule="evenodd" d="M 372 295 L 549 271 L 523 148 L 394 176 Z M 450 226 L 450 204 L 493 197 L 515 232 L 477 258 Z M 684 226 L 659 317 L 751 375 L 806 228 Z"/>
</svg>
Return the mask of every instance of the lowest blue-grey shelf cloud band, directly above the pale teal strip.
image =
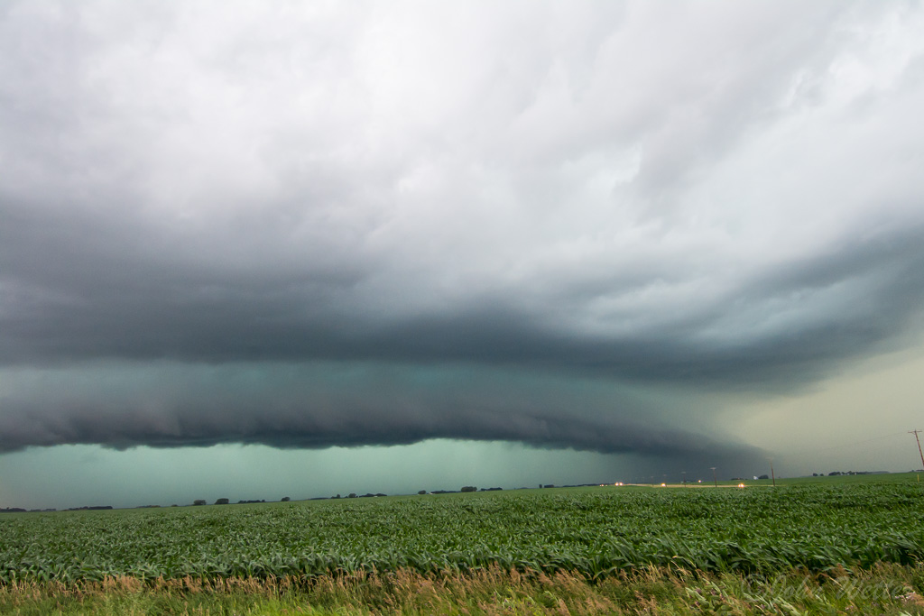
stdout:
<svg viewBox="0 0 924 616">
<path fill-rule="evenodd" d="M 728 469 L 759 453 L 703 434 L 707 412 L 697 401 L 661 417 L 663 402 L 638 388 L 529 370 L 161 362 L 67 369 L 54 379 L 20 370 L 11 389 L 0 452 L 65 442 L 323 448 L 452 438 Z"/>
</svg>

